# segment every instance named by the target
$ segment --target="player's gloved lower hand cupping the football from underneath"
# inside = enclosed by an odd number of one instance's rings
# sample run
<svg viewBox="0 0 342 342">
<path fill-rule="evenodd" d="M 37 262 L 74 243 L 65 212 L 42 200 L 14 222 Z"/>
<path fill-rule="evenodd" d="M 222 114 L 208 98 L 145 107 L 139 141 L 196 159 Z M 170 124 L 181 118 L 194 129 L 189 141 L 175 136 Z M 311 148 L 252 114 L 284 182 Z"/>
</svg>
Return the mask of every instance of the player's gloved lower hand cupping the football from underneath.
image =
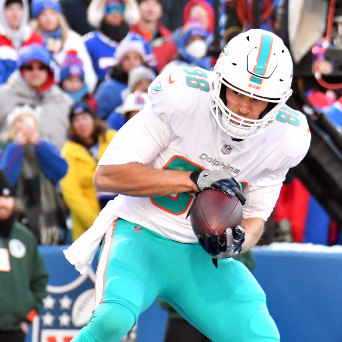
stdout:
<svg viewBox="0 0 342 342">
<path fill-rule="evenodd" d="M 227 228 L 223 241 L 220 241 L 219 234 L 216 232 L 207 234 L 204 238 L 198 235 L 199 244 L 214 259 L 235 257 L 241 252 L 244 241 L 245 231 L 239 225 L 235 226 L 234 234 L 232 228 Z"/>
</svg>

